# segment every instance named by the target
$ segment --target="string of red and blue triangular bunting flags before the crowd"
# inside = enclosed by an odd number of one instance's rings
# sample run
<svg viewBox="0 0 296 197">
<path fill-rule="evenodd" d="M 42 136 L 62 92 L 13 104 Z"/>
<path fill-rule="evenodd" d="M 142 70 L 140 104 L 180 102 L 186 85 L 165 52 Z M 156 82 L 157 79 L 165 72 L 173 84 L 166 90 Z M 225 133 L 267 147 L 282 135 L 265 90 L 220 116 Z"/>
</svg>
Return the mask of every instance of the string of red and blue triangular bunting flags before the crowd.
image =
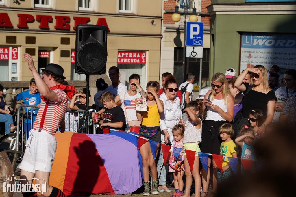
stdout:
<svg viewBox="0 0 296 197">
<path fill-rule="evenodd" d="M 110 130 L 108 131 L 109 129 L 106 129 L 106 128 L 103 128 L 103 133 L 110 133 L 110 132 L 117 132 L 117 131 L 113 131 L 113 130 Z M 121 131 L 119 130 L 118 132 L 125 132 L 125 131 Z M 134 135 L 136 137 L 139 138 L 139 141 L 138 141 L 138 146 L 139 146 L 139 149 L 140 147 L 146 142 L 146 141 L 149 141 L 150 143 L 150 148 L 151 148 L 151 152 L 153 154 L 153 157 L 155 158 L 156 155 L 155 155 L 155 150 L 156 150 L 156 146 L 157 146 L 157 142 L 155 141 L 152 141 L 152 140 L 149 140 L 147 138 L 144 138 L 144 137 L 141 137 L 139 136 L 139 134 L 137 133 L 131 133 L 131 132 L 127 132 L 128 134 L 131 134 L 131 135 Z M 166 161 L 168 159 L 168 154 L 169 154 L 169 150 L 171 148 L 171 146 L 169 145 L 166 145 L 166 144 L 161 144 L 161 148 L 162 148 L 162 151 L 163 151 L 163 158 L 164 158 L 164 161 Z M 175 151 L 176 150 L 176 151 Z M 177 151 L 178 150 L 178 151 Z M 190 166 L 190 169 L 192 171 L 192 168 L 193 168 L 193 164 L 194 164 L 194 159 L 195 159 L 195 152 L 194 151 L 190 151 L 190 150 L 185 150 L 185 149 L 182 149 L 182 148 L 176 148 L 174 147 L 173 148 L 173 153 L 176 154 L 176 157 L 178 157 L 181 153 L 181 151 L 184 150 L 184 151 L 187 151 L 189 153 L 189 156 L 186 156 L 187 157 L 187 160 L 189 162 L 189 166 Z M 194 152 L 194 153 L 193 153 Z M 214 159 L 214 161 L 216 162 L 217 164 L 217 167 L 219 169 L 221 169 L 222 171 L 222 162 L 223 162 L 223 156 L 222 155 L 216 155 L 216 154 L 209 154 L 209 153 L 202 153 L 202 152 L 198 152 L 199 154 L 199 158 L 200 158 L 200 161 L 202 163 L 202 166 L 204 167 L 204 169 L 207 171 L 207 164 L 208 164 L 208 157 L 209 155 L 211 155 Z M 187 155 L 187 153 L 186 153 Z M 241 159 L 242 161 L 242 166 L 243 166 L 243 169 L 245 171 L 250 171 L 253 167 L 253 163 L 255 160 L 253 159 L 247 159 L 247 158 L 234 158 L 234 157 L 231 157 L 231 156 L 224 156 L 224 157 L 227 157 L 229 159 L 229 164 L 232 168 L 232 170 L 234 171 L 234 173 L 237 173 L 237 162 L 238 162 L 238 159 Z M 190 161 L 189 161 L 190 160 Z"/>
</svg>

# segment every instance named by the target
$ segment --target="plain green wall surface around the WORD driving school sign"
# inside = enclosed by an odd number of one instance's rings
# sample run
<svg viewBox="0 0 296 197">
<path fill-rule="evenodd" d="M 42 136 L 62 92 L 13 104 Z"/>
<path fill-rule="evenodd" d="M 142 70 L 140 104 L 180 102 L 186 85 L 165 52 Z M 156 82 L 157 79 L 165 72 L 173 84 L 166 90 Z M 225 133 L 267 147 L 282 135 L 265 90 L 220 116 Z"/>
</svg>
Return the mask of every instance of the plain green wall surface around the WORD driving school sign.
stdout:
<svg viewBox="0 0 296 197">
<path fill-rule="evenodd" d="M 227 2 L 244 3 L 244 1 Z M 212 4 L 214 3 L 225 2 L 212 1 Z M 214 14 L 211 16 L 211 25 L 209 79 L 213 74 L 225 73 L 229 68 L 234 68 L 238 76 L 241 33 L 296 33 L 296 12 L 295 15 Z"/>
</svg>

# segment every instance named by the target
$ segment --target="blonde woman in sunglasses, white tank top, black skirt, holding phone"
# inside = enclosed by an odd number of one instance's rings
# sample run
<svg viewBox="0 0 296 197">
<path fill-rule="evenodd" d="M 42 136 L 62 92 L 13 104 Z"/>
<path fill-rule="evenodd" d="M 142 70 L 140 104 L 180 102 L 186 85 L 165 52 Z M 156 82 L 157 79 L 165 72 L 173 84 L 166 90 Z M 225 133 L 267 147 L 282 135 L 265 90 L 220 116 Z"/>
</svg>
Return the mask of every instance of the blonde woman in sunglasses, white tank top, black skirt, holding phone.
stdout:
<svg viewBox="0 0 296 197">
<path fill-rule="evenodd" d="M 228 82 L 222 73 L 212 77 L 212 89 L 205 94 L 204 107 L 207 108 L 207 117 L 202 124 L 201 151 L 204 153 L 220 154 L 219 127 L 226 122 L 231 122 L 234 114 L 234 98 L 229 92 Z M 207 99 L 207 100 L 206 100 Z M 212 196 L 217 192 L 217 165 L 213 160 L 213 190 Z M 202 167 L 202 186 L 207 192 L 210 180 L 210 164 L 208 159 L 207 171 Z M 203 196 L 204 193 L 201 194 Z"/>
</svg>

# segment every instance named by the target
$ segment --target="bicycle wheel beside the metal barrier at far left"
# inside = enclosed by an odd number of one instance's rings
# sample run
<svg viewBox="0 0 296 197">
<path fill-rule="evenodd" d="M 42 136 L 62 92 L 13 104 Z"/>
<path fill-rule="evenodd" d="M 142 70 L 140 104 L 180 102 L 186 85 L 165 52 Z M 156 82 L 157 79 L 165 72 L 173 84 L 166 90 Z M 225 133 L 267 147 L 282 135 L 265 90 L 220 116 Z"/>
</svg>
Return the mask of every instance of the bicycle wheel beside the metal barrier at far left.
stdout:
<svg viewBox="0 0 296 197">
<path fill-rule="evenodd" d="M 12 164 L 12 168 L 14 171 L 17 169 L 17 166 L 22 161 L 23 154 L 15 153 L 15 152 L 9 152 L 9 151 L 16 151 L 16 146 L 18 146 L 18 151 L 24 152 L 25 151 L 25 141 L 21 140 L 19 141 L 18 145 L 17 143 L 17 134 L 15 133 L 9 133 L 2 138 L 0 138 L 0 151 L 6 151 L 7 156 L 9 158 L 9 161 Z M 13 160 L 15 157 L 15 154 L 17 154 L 17 157 L 15 158 L 15 161 Z"/>
</svg>

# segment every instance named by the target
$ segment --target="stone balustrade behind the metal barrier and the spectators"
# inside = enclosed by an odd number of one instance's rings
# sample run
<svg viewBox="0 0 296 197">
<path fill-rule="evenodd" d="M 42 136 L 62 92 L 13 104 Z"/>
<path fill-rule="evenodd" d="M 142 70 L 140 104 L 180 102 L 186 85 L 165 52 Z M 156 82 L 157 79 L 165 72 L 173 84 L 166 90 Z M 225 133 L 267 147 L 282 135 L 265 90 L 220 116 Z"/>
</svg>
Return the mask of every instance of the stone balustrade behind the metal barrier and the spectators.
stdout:
<svg viewBox="0 0 296 197">
<path fill-rule="evenodd" d="M 91 99 L 89 100 L 90 103 L 94 104 L 94 95 L 97 92 L 96 88 L 96 80 L 98 78 L 103 78 L 105 82 L 110 85 L 111 81 L 109 80 L 107 75 L 90 75 L 89 80 L 89 91 L 91 93 Z M 67 81 L 69 85 L 75 86 L 77 91 L 81 88 L 86 87 L 86 81 Z M 4 93 L 6 93 L 5 101 L 7 106 L 13 108 L 13 99 L 14 97 L 21 93 L 22 91 L 29 89 L 30 81 L 0 81 L 0 84 L 4 87 Z M 15 91 L 14 91 L 15 90 Z M 23 101 L 17 101 L 17 109 L 18 107 L 23 104 Z"/>
</svg>

